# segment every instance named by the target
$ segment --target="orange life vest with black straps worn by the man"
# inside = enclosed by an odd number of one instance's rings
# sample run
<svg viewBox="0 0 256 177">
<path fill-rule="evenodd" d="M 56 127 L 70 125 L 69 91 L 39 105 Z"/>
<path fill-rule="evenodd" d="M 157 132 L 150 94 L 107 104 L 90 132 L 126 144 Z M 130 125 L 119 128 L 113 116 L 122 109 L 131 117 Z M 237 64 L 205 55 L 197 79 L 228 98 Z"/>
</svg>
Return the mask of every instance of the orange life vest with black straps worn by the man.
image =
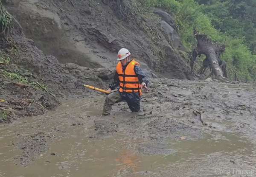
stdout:
<svg viewBox="0 0 256 177">
<path fill-rule="evenodd" d="M 125 72 L 122 70 L 122 64 L 121 62 L 118 62 L 116 65 L 116 72 L 118 73 L 119 77 L 119 92 L 126 92 L 126 93 L 132 93 L 132 92 L 139 92 L 140 96 L 142 95 L 141 91 L 141 85 L 139 82 L 139 78 L 137 74 L 134 72 L 135 65 L 140 64 L 136 62 L 134 59 L 131 60 L 131 62 L 128 63 L 128 65 L 125 68 Z"/>
</svg>

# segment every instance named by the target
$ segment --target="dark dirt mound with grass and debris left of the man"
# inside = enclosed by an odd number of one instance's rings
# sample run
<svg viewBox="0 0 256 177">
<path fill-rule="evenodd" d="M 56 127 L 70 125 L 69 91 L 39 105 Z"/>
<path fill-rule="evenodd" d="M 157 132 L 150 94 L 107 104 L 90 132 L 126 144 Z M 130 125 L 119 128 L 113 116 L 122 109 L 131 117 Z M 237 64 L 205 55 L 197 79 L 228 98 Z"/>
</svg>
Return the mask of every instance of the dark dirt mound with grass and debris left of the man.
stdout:
<svg viewBox="0 0 256 177">
<path fill-rule="evenodd" d="M 45 56 L 20 30 L 13 33 L 12 48 L 2 50 L 3 57 L 10 61 L 0 65 L 1 121 L 42 114 L 67 96 L 92 94 L 84 90 L 84 83 L 107 87 L 103 80 L 109 79 L 111 70 L 59 64 L 54 56 Z"/>
</svg>

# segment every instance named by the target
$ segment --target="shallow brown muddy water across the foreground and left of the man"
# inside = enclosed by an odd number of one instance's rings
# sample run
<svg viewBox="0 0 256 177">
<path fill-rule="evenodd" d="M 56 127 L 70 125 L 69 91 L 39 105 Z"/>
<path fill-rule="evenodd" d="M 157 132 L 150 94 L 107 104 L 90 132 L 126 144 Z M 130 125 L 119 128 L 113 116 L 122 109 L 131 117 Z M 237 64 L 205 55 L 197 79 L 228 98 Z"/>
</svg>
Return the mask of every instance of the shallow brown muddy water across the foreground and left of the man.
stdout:
<svg viewBox="0 0 256 177">
<path fill-rule="evenodd" d="M 256 175 L 256 144 L 236 133 L 207 131 L 192 140 L 167 138 L 165 153 L 142 153 L 138 147 L 149 140 L 128 136 L 132 130 L 122 128 L 124 119 L 139 124 L 141 118 L 124 112 L 113 117 L 117 131 L 105 131 L 111 124 L 102 122 L 112 119 L 100 116 L 103 100 L 70 100 L 46 115 L 0 125 L 0 177 Z"/>
</svg>

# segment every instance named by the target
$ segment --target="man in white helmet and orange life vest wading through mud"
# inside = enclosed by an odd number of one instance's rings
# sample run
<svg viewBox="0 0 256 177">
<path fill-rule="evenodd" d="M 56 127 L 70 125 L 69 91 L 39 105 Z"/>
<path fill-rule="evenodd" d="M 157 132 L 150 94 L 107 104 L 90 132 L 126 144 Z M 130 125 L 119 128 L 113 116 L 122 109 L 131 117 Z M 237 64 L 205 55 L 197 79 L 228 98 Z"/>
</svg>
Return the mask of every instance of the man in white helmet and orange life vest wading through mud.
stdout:
<svg viewBox="0 0 256 177">
<path fill-rule="evenodd" d="M 105 100 L 102 115 L 109 115 L 114 103 L 126 101 L 132 112 L 140 112 L 140 97 L 142 89 L 148 89 L 148 78 L 140 68 L 140 64 L 134 59 L 130 60 L 131 53 L 122 48 L 118 52 L 118 64 L 114 82 L 109 85 L 108 91 L 114 90 L 117 86 L 117 92 L 109 94 Z"/>
</svg>

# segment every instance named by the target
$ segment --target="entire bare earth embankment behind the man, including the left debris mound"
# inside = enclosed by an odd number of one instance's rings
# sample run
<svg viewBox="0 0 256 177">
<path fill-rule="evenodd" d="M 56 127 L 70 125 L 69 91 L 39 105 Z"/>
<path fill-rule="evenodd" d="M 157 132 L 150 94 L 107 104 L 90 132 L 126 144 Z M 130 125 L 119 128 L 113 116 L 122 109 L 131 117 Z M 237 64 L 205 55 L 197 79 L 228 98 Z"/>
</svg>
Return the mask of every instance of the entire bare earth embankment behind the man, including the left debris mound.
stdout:
<svg viewBox="0 0 256 177">
<path fill-rule="evenodd" d="M 1 121 L 42 114 L 62 98 L 90 94 L 83 83 L 106 88 L 113 69 L 102 67 L 114 67 L 122 47 L 130 49 L 149 76 L 155 76 L 151 68 L 170 78 L 191 78 L 186 62 L 162 31 L 160 18 L 140 12 L 136 4 L 6 2 L 20 25 L 15 23 L 9 48 L 1 49 L 1 56 L 9 59 L 7 65 L 0 65 Z"/>
</svg>

